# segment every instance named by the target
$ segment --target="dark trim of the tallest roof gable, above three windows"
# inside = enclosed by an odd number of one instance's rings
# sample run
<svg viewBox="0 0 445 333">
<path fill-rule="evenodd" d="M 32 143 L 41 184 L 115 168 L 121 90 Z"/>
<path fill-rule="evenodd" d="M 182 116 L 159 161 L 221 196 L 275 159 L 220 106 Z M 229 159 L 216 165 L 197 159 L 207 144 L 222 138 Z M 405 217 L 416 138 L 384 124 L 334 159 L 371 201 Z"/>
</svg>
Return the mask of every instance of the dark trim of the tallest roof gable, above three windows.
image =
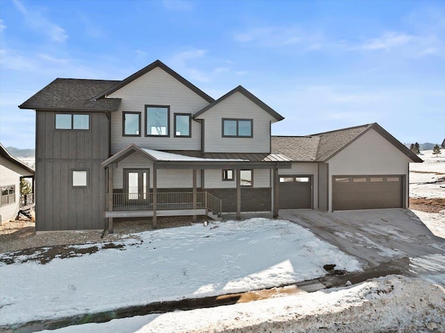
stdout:
<svg viewBox="0 0 445 333">
<path fill-rule="evenodd" d="M 205 99 L 209 103 L 214 101 L 214 99 L 212 97 L 210 97 L 205 92 L 200 90 L 200 88 L 197 88 L 197 86 L 195 86 L 190 81 L 187 81 L 186 79 L 184 79 L 184 77 L 182 77 L 181 75 L 177 74 L 177 72 L 172 70 L 170 67 L 168 67 L 164 63 L 162 63 L 161 60 L 156 60 L 153 63 L 149 64 L 148 66 L 144 67 L 142 70 L 138 70 L 138 72 L 136 72 L 134 74 L 131 74 L 130 76 L 127 77 L 127 79 L 124 79 L 122 81 L 118 81 L 118 83 L 116 83 L 114 86 L 112 86 L 112 87 L 110 87 L 110 88 L 100 92 L 95 97 L 92 97 L 92 100 L 103 99 L 103 97 L 106 97 L 107 95 L 112 94 L 113 92 L 119 90 L 120 88 L 122 88 L 124 86 L 127 86 L 127 84 L 129 84 L 132 81 L 138 79 L 140 76 L 143 76 L 144 74 L 147 74 L 148 72 L 150 72 L 151 70 L 154 70 L 157 67 L 161 68 L 161 70 L 163 70 L 164 72 L 167 72 L 168 74 L 173 76 L 175 79 L 177 79 L 177 81 L 179 81 L 182 84 L 184 84 L 184 86 L 186 86 L 187 88 L 193 90 L 193 92 L 195 92 L 197 95 L 199 95 L 200 97 L 202 97 L 203 99 Z"/>
</svg>

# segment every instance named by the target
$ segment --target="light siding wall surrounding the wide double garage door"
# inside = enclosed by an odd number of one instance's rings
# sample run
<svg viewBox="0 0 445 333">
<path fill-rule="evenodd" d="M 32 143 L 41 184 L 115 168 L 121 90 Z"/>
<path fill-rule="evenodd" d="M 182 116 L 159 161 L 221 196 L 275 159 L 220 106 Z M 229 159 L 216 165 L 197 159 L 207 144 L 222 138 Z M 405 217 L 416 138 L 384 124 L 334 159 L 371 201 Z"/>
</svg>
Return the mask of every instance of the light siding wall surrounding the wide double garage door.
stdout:
<svg viewBox="0 0 445 333">
<path fill-rule="evenodd" d="M 408 206 L 408 173 L 411 159 L 374 129 L 334 155 L 329 163 L 329 210 L 332 211 L 332 176 L 394 174 L 405 177 L 405 206 Z"/>
</svg>

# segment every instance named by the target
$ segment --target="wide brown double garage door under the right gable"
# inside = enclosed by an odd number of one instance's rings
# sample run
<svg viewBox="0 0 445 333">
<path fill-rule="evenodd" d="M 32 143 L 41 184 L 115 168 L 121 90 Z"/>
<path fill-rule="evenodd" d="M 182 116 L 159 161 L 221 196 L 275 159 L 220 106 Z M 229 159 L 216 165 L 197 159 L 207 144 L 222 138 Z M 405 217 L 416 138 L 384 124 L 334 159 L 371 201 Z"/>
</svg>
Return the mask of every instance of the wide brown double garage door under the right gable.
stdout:
<svg viewBox="0 0 445 333">
<path fill-rule="evenodd" d="M 332 210 L 403 208 L 403 176 L 333 176 Z"/>
</svg>

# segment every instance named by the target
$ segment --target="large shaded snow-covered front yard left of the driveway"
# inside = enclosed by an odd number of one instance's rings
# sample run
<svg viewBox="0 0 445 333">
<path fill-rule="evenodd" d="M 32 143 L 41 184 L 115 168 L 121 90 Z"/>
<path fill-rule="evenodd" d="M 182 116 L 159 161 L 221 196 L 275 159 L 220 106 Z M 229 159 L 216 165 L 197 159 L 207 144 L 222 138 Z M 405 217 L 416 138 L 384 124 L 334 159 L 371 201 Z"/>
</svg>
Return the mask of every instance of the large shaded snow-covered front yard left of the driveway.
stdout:
<svg viewBox="0 0 445 333">
<path fill-rule="evenodd" d="M 122 248 L 100 245 L 46 264 L 29 261 L 37 254 L 0 254 L 0 325 L 283 286 L 325 275 L 325 264 L 361 270 L 357 259 L 286 220 L 215 222 L 136 237 Z M 92 245 L 74 248 L 86 247 Z"/>
</svg>

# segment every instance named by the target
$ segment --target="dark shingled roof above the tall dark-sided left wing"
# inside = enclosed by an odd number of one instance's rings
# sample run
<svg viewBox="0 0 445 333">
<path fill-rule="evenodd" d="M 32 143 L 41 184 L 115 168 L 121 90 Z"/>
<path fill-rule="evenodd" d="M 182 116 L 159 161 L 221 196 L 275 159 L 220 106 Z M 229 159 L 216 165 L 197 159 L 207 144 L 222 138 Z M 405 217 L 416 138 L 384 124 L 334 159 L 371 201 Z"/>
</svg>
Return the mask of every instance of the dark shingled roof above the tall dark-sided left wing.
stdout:
<svg viewBox="0 0 445 333">
<path fill-rule="evenodd" d="M 55 79 L 37 92 L 19 108 L 57 111 L 117 111 L 118 98 L 92 101 L 100 92 L 115 86 L 120 81 L 88 79 Z"/>
</svg>

